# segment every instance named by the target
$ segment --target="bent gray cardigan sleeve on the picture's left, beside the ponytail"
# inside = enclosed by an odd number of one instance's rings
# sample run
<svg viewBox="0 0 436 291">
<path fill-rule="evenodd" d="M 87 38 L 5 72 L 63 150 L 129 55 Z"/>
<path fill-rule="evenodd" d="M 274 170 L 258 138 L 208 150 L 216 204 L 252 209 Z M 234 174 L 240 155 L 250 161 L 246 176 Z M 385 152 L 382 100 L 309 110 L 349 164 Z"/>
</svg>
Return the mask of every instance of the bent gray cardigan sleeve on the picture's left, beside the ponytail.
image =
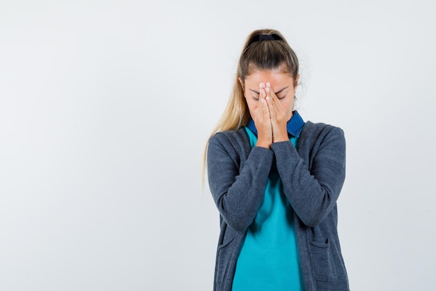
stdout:
<svg viewBox="0 0 436 291">
<path fill-rule="evenodd" d="M 244 232 L 263 202 L 272 165 L 270 149 L 254 147 L 240 169 L 241 153 L 222 133 L 208 144 L 208 181 L 219 214 L 233 230 Z"/>
</svg>

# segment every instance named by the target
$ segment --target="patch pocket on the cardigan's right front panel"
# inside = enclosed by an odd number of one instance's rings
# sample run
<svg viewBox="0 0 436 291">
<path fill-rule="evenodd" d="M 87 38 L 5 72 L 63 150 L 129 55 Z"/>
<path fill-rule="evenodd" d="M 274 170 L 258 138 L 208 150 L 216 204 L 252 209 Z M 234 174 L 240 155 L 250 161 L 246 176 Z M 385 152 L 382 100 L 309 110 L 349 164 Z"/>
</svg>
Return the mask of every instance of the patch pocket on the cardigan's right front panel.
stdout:
<svg viewBox="0 0 436 291">
<path fill-rule="evenodd" d="M 315 278 L 317 281 L 334 282 L 337 280 L 336 269 L 330 244 L 327 239 L 325 243 L 311 241 L 311 258 Z"/>
</svg>

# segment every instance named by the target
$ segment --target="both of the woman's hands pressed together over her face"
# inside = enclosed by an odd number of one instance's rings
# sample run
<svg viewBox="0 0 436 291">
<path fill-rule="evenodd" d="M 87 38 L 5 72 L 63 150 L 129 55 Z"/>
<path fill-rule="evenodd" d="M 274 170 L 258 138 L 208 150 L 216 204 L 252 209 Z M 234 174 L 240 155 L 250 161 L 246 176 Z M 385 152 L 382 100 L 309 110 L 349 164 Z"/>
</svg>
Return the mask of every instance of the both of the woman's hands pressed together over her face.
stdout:
<svg viewBox="0 0 436 291">
<path fill-rule="evenodd" d="M 258 130 L 256 146 L 270 148 L 273 142 L 288 141 L 286 109 L 281 105 L 270 83 L 259 84 L 258 107 L 253 114 L 254 124 Z"/>
</svg>

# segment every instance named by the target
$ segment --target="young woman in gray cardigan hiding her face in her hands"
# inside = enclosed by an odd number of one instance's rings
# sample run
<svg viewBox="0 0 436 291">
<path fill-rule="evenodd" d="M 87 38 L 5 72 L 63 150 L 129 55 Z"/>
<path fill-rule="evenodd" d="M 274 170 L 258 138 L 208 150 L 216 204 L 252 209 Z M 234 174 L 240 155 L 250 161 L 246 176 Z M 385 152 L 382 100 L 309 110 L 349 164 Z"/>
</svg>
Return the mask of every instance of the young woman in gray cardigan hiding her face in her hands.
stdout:
<svg viewBox="0 0 436 291">
<path fill-rule="evenodd" d="M 294 110 L 298 60 L 279 31 L 253 31 L 207 145 L 220 214 L 214 290 L 349 290 L 337 233 L 343 130 Z"/>
</svg>

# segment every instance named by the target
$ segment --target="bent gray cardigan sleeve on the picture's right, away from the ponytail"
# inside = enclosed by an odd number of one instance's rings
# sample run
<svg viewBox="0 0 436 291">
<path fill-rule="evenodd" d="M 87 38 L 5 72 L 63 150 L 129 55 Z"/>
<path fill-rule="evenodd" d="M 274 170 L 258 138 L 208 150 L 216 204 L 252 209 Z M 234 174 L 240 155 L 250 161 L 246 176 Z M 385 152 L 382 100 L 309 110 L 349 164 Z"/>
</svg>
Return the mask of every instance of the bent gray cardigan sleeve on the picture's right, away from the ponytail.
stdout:
<svg viewBox="0 0 436 291">
<path fill-rule="evenodd" d="M 345 180 L 345 137 L 341 128 L 331 127 L 320 142 L 314 142 L 312 165 L 297 153 L 291 142 L 272 144 L 283 193 L 302 222 L 321 223 L 336 205 Z"/>
</svg>

